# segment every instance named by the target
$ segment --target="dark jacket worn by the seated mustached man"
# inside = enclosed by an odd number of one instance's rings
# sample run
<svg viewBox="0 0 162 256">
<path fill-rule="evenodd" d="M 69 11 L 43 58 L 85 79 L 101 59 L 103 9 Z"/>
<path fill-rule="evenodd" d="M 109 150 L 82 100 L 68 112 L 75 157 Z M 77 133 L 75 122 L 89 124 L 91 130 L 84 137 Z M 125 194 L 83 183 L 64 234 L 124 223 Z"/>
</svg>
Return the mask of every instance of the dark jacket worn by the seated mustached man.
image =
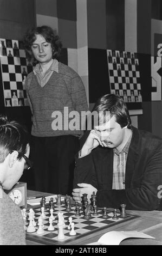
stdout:
<svg viewBox="0 0 162 256">
<path fill-rule="evenodd" d="M 125 190 L 112 190 L 113 149 L 97 147 L 87 156 L 78 159 L 74 171 L 77 183 L 91 184 L 98 189 L 100 207 L 159 210 L 162 197 L 162 139 L 132 126 L 129 146 Z M 161 185 L 161 188 L 160 188 Z"/>
</svg>

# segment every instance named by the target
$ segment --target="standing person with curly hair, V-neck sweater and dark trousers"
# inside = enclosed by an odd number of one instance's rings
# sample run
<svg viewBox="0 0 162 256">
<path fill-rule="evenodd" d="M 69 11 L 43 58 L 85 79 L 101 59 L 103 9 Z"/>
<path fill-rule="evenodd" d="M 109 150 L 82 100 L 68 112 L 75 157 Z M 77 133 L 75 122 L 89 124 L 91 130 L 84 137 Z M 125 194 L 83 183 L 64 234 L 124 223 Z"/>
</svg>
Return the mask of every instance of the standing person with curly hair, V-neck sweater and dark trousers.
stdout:
<svg viewBox="0 0 162 256">
<path fill-rule="evenodd" d="M 33 115 L 35 189 L 71 194 L 74 155 L 82 131 L 68 128 L 70 119 L 64 116 L 64 107 L 68 107 L 68 113 L 87 111 L 85 88 L 80 76 L 58 61 L 62 44 L 53 29 L 48 26 L 30 29 L 24 36 L 24 46 L 29 62 L 37 62 L 26 79 Z M 62 126 L 56 127 L 53 121 L 58 113 L 62 116 Z"/>
</svg>

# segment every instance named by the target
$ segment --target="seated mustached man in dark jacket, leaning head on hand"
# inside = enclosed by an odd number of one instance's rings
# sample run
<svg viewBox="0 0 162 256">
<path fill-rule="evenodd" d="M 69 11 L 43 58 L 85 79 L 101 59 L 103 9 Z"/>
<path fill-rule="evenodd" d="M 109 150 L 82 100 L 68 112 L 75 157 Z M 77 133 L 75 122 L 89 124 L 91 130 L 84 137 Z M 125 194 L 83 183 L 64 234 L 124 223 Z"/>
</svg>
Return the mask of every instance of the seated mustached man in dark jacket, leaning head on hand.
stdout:
<svg viewBox="0 0 162 256">
<path fill-rule="evenodd" d="M 131 125 L 125 102 L 102 96 L 94 107 L 100 113 L 76 157 L 73 198 L 96 192 L 100 207 L 156 210 L 162 185 L 162 140 Z M 103 123 L 101 124 L 101 120 Z"/>
</svg>

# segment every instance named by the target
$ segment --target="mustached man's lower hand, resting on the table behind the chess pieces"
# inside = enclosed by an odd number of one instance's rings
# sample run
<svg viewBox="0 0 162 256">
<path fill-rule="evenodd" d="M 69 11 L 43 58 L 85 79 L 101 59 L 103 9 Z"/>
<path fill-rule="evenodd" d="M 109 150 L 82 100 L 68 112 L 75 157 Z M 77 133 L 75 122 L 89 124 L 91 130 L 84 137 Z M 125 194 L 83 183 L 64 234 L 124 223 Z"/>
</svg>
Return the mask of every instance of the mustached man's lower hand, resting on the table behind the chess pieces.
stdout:
<svg viewBox="0 0 162 256">
<path fill-rule="evenodd" d="M 91 195 L 93 194 L 93 192 L 96 193 L 98 191 L 95 187 L 87 183 L 80 183 L 77 184 L 77 186 L 79 186 L 80 188 L 74 188 L 72 194 L 73 199 L 79 203 L 81 203 L 81 197 L 85 193 L 87 194 L 88 203 L 90 203 Z"/>
</svg>

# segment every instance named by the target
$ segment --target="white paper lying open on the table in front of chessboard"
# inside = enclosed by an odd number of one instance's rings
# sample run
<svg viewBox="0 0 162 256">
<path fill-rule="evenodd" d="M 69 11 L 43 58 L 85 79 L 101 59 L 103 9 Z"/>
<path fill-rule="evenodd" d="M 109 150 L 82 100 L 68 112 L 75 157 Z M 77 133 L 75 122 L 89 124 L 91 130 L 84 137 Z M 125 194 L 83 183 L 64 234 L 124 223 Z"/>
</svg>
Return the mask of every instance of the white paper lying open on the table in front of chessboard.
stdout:
<svg viewBox="0 0 162 256">
<path fill-rule="evenodd" d="M 119 245 L 122 240 L 129 237 L 155 238 L 139 231 L 109 231 L 102 235 L 97 242 L 90 243 L 89 245 Z"/>
</svg>

